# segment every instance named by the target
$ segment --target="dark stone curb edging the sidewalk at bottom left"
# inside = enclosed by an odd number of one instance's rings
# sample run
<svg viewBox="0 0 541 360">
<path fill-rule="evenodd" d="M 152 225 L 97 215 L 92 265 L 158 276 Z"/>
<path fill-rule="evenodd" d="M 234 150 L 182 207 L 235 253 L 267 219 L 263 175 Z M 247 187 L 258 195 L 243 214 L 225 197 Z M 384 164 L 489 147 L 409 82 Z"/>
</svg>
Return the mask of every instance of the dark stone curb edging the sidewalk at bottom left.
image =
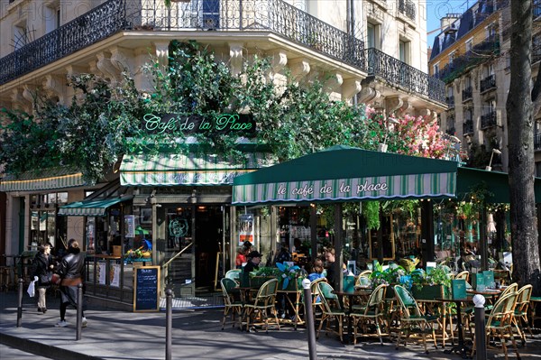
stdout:
<svg viewBox="0 0 541 360">
<path fill-rule="evenodd" d="M 0 336 L 0 344 L 14 347 L 15 349 L 22 350 L 25 353 L 41 355 L 54 360 L 102 360 L 101 357 L 89 356 L 61 347 L 50 346 L 37 341 L 23 339 L 21 337 L 14 337 L 13 335 L 8 335 L 5 333 L 2 333 L 2 336 Z"/>
</svg>

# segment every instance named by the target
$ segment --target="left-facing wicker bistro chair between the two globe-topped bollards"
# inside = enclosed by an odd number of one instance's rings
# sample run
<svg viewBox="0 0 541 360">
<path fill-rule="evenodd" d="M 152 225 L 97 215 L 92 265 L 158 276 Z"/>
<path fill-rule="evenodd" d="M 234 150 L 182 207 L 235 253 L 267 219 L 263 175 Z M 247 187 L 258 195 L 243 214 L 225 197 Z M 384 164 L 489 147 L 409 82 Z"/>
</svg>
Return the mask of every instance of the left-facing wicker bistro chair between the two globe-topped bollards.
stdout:
<svg viewBox="0 0 541 360">
<path fill-rule="evenodd" d="M 354 306 L 350 317 L 353 318 L 353 345 L 357 344 L 357 337 L 362 337 L 363 334 L 368 334 L 368 325 L 372 322 L 376 327 L 378 337 L 380 337 L 380 345 L 383 346 L 381 338 L 381 324 L 383 324 L 383 308 L 385 305 L 385 291 L 387 285 L 380 285 L 371 292 L 368 302 L 362 306 Z M 360 324 L 361 323 L 361 324 Z M 358 326 L 362 325 L 362 334 L 358 335 Z"/>
</svg>

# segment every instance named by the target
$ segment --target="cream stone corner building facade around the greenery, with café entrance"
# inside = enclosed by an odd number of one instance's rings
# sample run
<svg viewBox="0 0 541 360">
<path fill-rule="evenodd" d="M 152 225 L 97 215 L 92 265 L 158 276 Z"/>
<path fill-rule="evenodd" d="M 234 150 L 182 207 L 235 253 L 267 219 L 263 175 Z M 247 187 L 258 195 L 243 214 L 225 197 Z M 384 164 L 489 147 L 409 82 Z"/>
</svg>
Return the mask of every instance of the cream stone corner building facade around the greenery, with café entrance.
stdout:
<svg viewBox="0 0 541 360">
<path fill-rule="evenodd" d="M 173 0 L 170 7 L 159 0 L 1 0 L 0 5 L 0 32 L 9 34 L 0 40 L 0 106 L 8 109 L 32 113 L 37 90 L 68 105 L 77 94 L 66 78 L 84 73 L 115 82 L 127 70 L 137 88 L 151 91 L 139 69 L 152 58 L 167 64 L 173 40 L 208 46 L 233 73 L 253 54 L 270 57 L 277 85 L 286 72 L 299 81 L 326 78 L 332 98 L 370 104 L 388 115 L 436 119 L 446 108 L 443 82 L 427 74 L 426 8 L 417 0 Z M 212 285 L 219 268 L 232 267 L 245 230 L 241 222 L 266 229 L 253 236 L 256 247 L 271 254 L 280 241 L 280 217 L 297 216 L 295 210 L 275 208 L 269 217 L 257 212 L 242 217 L 231 207 L 232 177 L 265 163 L 264 155 L 251 156 L 243 166 L 228 159 L 125 156 L 92 187 L 77 170 L 5 173 L 0 183 L 6 198 L 5 253 L 19 254 L 46 241 L 58 246 L 74 237 L 88 254 L 109 256 L 119 251 L 114 246 L 124 253 L 137 245 L 137 235 L 148 235 L 152 263 L 183 259 L 164 272 L 163 282 L 175 278 L 185 285 L 179 293 L 193 293 L 196 284 Z M 198 175 L 187 177 L 187 171 Z M 130 226 L 137 234 L 126 234 Z M 124 263 L 105 260 L 107 269 L 115 265 L 124 272 Z"/>
</svg>

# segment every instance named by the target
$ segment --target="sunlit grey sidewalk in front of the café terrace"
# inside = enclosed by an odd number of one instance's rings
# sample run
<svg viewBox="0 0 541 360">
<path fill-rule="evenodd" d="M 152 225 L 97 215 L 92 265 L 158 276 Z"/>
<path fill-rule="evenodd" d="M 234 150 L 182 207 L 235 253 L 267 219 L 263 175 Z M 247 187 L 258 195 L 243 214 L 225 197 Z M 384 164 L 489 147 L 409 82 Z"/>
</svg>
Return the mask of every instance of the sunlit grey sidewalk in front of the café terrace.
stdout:
<svg viewBox="0 0 541 360">
<path fill-rule="evenodd" d="M 92 306 L 86 311 L 88 327 L 82 338 L 75 340 L 75 309 L 69 309 L 68 328 L 54 328 L 59 320 L 59 299 L 48 298 L 49 311 L 39 314 L 35 300 L 23 294 L 23 322 L 16 328 L 17 296 L 14 291 L 0 295 L 0 343 L 55 359 L 164 359 L 165 312 L 133 313 Z M 271 329 L 245 333 L 226 325 L 221 330 L 222 309 L 183 309 L 173 311 L 173 359 L 307 359 L 307 333 L 304 328 L 294 330 L 284 326 L 280 331 Z M 459 355 L 446 355 L 440 347 L 429 346 L 430 354 L 422 346 L 401 347 L 394 343 L 380 346 L 371 339 L 356 346 L 344 346 L 335 337 L 322 332 L 316 343 L 319 359 L 456 359 Z M 449 346 L 447 346 L 449 348 Z M 538 359 L 541 354 L 541 336 L 528 338 L 526 347 L 519 346 L 523 360 Z M 489 358 L 503 358 L 500 350 L 489 350 Z M 1 357 L 1 356 L 0 356 Z M 509 357 L 514 353 L 509 349 Z"/>
</svg>

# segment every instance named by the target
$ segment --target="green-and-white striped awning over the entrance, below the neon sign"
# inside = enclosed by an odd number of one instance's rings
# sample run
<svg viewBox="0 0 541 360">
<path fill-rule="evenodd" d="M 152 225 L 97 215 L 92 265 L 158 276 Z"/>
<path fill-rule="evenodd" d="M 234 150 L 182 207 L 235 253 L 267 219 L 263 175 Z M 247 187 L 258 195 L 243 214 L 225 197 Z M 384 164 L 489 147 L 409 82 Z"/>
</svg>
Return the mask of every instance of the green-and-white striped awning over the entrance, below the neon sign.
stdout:
<svg viewBox="0 0 541 360">
<path fill-rule="evenodd" d="M 125 155 L 124 186 L 231 185 L 236 176 L 273 164 L 269 152 L 248 152 L 240 159 L 214 154 Z"/>
</svg>

